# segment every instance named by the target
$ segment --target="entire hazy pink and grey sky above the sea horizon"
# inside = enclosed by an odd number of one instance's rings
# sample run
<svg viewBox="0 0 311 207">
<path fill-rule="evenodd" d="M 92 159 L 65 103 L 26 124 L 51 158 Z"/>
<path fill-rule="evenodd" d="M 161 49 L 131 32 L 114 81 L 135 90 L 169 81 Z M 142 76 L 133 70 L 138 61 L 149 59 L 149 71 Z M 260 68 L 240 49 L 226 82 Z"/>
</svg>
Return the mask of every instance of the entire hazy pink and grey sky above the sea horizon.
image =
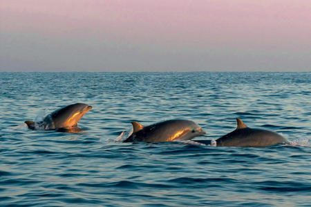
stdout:
<svg viewBox="0 0 311 207">
<path fill-rule="evenodd" d="M 311 1 L 0 0 L 4 71 L 311 71 Z"/>
</svg>

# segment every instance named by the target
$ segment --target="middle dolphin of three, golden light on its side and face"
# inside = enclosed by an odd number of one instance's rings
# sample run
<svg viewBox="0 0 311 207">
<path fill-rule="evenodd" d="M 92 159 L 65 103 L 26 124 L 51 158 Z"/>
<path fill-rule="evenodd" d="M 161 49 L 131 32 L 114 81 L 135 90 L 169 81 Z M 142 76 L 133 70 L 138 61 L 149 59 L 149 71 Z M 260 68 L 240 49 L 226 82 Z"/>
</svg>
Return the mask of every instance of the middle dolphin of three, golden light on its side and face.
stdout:
<svg viewBox="0 0 311 207">
<path fill-rule="evenodd" d="M 150 126 L 142 126 L 132 121 L 133 133 L 123 142 L 164 142 L 189 140 L 196 136 L 205 135 L 205 131 L 194 123 L 182 119 L 162 121 Z"/>
</svg>

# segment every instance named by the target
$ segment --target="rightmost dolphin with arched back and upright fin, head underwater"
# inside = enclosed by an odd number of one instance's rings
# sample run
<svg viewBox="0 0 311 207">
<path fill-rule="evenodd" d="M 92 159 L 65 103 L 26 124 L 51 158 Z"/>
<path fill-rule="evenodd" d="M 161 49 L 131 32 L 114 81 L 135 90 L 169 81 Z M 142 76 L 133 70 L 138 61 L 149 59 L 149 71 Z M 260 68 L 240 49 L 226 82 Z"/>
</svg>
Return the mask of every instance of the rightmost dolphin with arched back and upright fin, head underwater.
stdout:
<svg viewBox="0 0 311 207">
<path fill-rule="evenodd" d="M 267 147 L 288 142 L 275 132 L 248 128 L 241 119 L 236 118 L 236 121 L 236 130 L 217 139 L 217 146 Z"/>
</svg>

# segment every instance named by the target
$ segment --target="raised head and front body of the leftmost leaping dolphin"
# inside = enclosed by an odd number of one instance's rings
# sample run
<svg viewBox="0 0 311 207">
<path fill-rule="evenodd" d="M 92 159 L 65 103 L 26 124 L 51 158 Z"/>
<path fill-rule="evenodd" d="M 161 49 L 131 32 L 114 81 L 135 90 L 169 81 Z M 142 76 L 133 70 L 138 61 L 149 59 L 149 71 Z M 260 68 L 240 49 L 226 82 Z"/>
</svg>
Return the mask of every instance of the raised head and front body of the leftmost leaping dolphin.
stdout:
<svg viewBox="0 0 311 207">
<path fill-rule="evenodd" d="M 75 103 L 48 115 L 45 121 L 51 119 L 53 121 L 54 128 L 68 128 L 76 126 L 77 122 L 89 111 L 92 106 L 88 106 L 85 103 Z"/>
</svg>

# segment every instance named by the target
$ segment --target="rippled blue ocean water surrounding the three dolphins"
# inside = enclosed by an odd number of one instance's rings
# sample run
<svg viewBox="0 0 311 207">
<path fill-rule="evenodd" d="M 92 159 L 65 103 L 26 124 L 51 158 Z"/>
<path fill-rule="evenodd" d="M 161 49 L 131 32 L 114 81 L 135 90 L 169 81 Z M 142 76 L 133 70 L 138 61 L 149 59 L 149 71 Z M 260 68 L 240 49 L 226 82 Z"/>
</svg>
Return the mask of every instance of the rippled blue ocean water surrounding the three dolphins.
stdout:
<svg viewBox="0 0 311 207">
<path fill-rule="evenodd" d="M 311 206 L 311 72 L 1 72 L 0 86 L 0 206 Z M 80 132 L 23 123 L 78 102 L 93 106 Z M 290 144 L 118 141 L 167 119 L 217 139 L 236 117 Z"/>
</svg>

